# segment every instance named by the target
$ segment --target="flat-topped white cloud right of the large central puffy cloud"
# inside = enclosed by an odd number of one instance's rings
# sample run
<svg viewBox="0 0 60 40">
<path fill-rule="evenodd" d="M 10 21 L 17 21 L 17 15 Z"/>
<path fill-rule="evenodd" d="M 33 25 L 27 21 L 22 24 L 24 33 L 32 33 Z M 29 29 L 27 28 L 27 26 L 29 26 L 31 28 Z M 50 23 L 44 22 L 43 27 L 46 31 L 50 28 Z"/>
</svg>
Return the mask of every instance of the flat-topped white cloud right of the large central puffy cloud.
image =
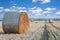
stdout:
<svg viewBox="0 0 60 40">
<path fill-rule="evenodd" d="M 52 18 L 55 15 L 56 8 L 47 7 L 44 9 L 43 14 L 46 18 Z"/>
</svg>

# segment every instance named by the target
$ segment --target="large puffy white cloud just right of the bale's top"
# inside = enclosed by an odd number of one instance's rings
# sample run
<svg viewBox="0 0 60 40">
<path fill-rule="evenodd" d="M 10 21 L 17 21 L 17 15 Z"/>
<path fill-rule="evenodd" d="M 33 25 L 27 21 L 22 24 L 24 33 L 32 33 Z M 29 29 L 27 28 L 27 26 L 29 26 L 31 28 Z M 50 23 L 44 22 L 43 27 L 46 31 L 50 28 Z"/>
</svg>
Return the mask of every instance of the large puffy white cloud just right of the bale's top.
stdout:
<svg viewBox="0 0 60 40">
<path fill-rule="evenodd" d="M 42 15 L 42 9 L 40 7 L 33 7 L 33 8 L 29 8 L 29 12 L 31 15 L 33 15 L 34 17 L 39 17 Z"/>
</svg>

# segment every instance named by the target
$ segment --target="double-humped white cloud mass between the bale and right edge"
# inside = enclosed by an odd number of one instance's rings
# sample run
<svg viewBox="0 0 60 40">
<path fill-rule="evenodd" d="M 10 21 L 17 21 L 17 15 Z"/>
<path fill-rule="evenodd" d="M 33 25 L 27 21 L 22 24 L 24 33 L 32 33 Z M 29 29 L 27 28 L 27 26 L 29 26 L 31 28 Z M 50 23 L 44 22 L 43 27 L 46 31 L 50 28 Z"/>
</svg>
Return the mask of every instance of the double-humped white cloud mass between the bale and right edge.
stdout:
<svg viewBox="0 0 60 40">
<path fill-rule="evenodd" d="M 30 16 L 33 15 L 33 18 L 51 18 L 53 13 L 56 11 L 56 8 L 47 7 L 42 10 L 40 7 L 29 8 Z"/>
</svg>

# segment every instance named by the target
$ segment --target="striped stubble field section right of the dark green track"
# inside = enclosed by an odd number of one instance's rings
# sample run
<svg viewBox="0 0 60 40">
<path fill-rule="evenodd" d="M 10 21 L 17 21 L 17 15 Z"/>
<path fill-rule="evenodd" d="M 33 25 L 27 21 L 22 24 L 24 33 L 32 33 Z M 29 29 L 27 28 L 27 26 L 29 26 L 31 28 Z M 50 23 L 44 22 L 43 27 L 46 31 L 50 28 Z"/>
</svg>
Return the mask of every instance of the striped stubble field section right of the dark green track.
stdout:
<svg viewBox="0 0 60 40">
<path fill-rule="evenodd" d="M 60 40 L 60 21 L 51 21 L 47 23 L 47 30 L 49 32 L 49 40 Z"/>
</svg>

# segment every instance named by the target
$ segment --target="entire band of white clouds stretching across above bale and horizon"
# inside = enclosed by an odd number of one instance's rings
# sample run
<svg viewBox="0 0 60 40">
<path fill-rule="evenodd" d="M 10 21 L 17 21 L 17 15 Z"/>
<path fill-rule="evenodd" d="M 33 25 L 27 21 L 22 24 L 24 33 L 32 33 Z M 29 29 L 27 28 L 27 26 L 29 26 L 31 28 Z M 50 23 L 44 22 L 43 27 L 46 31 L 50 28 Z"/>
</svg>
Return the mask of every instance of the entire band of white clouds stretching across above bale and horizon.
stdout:
<svg viewBox="0 0 60 40">
<path fill-rule="evenodd" d="M 43 10 L 42 8 L 36 6 L 27 9 L 26 7 L 12 6 L 10 8 L 5 9 L 3 7 L 0 7 L 0 10 L 4 10 L 4 12 L 8 11 L 27 12 L 30 18 L 51 18 L 52 16 L 50 14 L 53 14 L 57 9 L 47 7 Z M 60 11 L 57 11 L 56 14 L 60 14 Z"/>
</svg>

